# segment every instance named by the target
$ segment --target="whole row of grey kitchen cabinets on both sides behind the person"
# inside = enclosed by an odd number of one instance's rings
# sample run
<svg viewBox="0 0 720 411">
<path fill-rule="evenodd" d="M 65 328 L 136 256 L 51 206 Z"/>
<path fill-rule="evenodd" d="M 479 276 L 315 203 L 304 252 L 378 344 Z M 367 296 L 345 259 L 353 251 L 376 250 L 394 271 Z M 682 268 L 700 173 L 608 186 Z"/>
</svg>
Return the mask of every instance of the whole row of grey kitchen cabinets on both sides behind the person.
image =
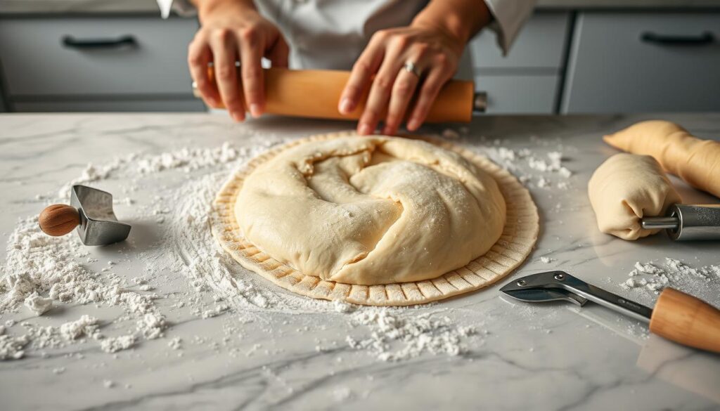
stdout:
<svg viewBox="0 0 720 411">
<path fill-rule="evenodd" d="M 720 110 L 717 9 L 579 7 L 541 6 L 506 56 L 490 30 L 470 42 L 487 113 Z M 197 19 L 149 13 L 0 15 L 4 109 L 203 111 L 185 63 Z"/>
</svg>

